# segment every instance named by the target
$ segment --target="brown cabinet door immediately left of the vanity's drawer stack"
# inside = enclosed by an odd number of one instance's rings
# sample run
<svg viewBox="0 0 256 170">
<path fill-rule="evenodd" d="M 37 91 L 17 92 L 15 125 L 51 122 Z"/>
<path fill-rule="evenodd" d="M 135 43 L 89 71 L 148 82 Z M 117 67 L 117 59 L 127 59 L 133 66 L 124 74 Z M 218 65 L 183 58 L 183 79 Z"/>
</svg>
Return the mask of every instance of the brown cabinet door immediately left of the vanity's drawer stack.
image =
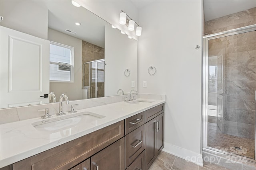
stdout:
<svg viewBox="0 0 256 170">
<path fill-rule="evenodd" d="M 92 170 L 124 170 L 124 138 L 91 157 Z"/>
</svg>

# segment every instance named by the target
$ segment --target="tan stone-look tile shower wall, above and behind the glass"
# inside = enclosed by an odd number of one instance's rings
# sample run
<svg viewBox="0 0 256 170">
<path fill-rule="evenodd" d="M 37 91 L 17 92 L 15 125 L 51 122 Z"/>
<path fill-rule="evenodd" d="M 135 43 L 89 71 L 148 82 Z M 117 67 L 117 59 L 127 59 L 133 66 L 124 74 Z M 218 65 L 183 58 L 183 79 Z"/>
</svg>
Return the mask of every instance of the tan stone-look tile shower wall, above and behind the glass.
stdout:
<svg viewBox="0 0 256 170">
<path fill-rule="evenodd" d="M 256 8 L 205 22 L 212 34 L 256 24 Z M 224 100 L 222 131 L 254 139 L 256 31 L 209 41 L 209 57 L 222 51 Z"/>
</svg>

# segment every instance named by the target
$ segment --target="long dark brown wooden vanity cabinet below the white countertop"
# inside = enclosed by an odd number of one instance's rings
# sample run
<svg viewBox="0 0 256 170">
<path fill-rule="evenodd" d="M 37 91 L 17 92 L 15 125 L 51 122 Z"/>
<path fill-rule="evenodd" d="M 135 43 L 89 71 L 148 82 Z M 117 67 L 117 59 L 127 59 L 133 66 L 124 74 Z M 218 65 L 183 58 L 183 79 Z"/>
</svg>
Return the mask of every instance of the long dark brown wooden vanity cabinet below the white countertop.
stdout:
<svg viewBox="0 0 256 170">
<path fill-rule="evenodd" d="M 164 104 L 0 170 L 148 170 L 164 147 Z"/>
</svg>

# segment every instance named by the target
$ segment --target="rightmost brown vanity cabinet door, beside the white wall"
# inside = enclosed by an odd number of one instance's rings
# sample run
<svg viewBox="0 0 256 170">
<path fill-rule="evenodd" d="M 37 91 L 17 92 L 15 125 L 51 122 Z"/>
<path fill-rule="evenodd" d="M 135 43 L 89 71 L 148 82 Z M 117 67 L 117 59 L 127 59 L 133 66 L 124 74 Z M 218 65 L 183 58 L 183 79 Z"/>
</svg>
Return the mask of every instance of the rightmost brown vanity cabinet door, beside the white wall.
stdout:
<svg viewBox="0 0 256 170">
<path fill-rule="evenodd" d="M 156 117 L 156 120 L 158 121 L 157 124 L 157 132 L 156 132 L 156 147 L 155 152 L 156 156 L 161 152 L 161 150 L 164 148 L 164 113 L 160 114 Z"/>
</svg>

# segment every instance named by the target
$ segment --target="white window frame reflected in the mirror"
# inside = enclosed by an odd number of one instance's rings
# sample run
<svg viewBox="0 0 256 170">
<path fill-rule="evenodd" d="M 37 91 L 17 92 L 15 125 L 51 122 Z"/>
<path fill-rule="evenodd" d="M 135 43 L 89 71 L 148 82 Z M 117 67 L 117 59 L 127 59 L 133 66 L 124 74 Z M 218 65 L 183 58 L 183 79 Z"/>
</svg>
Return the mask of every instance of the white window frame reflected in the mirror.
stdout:
<svg viewBox="0 0 256 170">
<path fill-rule="evenodd" d="M 50 64 L 55 64 L 57 65 L 57 68 L 59 67 L 59 65 L 66 65 L 66 66 L 70 66 L 70 80 L 69 81 L 64 81 L 64 80 L 50 80 L 50 82 L 65 82 L 65 83 L 73 83 L 74 82 L 74 47 L 71 47 L 69 45 L 64 45 L 61 43 L 56 43 L 54 41 L 50 41 L 50 45 L 56 45 L 59 47 L 64 47 L 67 49 L 70 49 L 70 64 L 65 64 L 63 63 L 63 61 L 50 61 L 50 57 L 49 57 L 49 63 Z M 50 53 L 49 53 L 50 56 Z M 57 71 L 61 71 L 61 72 L 68 72 L 68 71 L 64 71 L 64 70 L 57 70 Z"/>
</svg>

